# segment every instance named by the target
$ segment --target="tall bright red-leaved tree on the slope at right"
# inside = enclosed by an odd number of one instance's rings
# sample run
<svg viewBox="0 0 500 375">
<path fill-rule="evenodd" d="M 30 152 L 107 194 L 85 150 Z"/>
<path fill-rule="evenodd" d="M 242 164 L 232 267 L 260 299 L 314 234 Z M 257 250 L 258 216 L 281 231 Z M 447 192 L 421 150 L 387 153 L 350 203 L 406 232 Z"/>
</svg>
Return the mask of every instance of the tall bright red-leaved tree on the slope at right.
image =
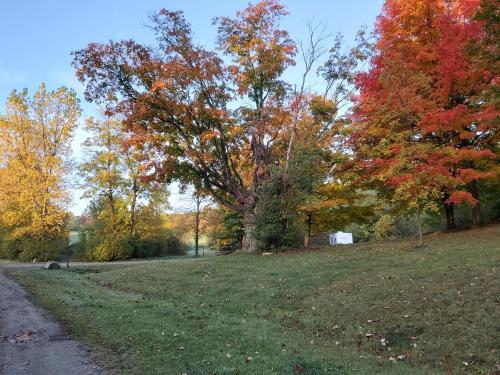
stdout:
<svg viewBox="0 0 500 375">
<path fill-rule="evenodd" d="M 479 3 L 386 0 L 371 68 L 358 76 L 351 142 L 362 176 L 417 212 L 440 201 L 450 229 L 464 201 L 479 221 L 475 184 L 491 176 L 481 162 L 495 157 L 499 112 L 486 93 L 498 71 L 471 53 L 486 37 Z"/>
</svg>

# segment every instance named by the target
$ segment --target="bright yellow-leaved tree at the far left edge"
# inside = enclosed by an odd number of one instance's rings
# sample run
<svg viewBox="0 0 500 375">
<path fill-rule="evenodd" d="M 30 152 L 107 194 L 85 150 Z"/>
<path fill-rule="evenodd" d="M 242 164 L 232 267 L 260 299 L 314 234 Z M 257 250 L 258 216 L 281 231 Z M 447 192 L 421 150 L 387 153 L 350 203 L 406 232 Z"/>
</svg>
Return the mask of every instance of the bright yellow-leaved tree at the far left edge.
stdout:
<svg viewBox="0 0 500 375">
<path fill-rule="evenodd" d="M 11 257 L 31 260 L 63 251 L 71 169 L 71 140 L 80 107 L 74 91 L 47 91 L 32 98 L 13 91 L 0 118 L 0 222 L 2 247 Z"/>
</svg>

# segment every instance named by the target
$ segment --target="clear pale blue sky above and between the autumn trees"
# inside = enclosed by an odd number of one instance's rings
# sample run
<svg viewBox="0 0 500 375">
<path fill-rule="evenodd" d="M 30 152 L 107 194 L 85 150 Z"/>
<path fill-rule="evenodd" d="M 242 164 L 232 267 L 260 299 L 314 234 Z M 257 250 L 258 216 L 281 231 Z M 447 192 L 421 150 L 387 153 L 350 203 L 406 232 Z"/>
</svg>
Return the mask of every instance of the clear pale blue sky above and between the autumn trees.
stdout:
<svg viewBox="0 0 500 375">
<path fill-rule="evenodd" d="M 254 3 L 255 1 L 251 1 Z M 191 22 L 195 40 L 214 46 L 212 19 L 231 16 L 248 5 L 248 0 L 15 0 L 0 6 L 0 113 L 13 89 L 28 88 L 33 93 L 44 82 L 48 89 L 68 86 L 76 90 L 83 109 L 80 123 L 98 108 L 85 102 L 83 86 L 71 67 L 71 52 L 90 42 L 135 39 L 154 44 L 147 28 L 148 15 L 161 8 L 182 10 Z M 326 24 L 329 34 L 342 33 L 346 45 L 362 26 L 372 27 L 383 0 L 282 0 L 290 14 L 282 26 L 296 41 L 305 35 L 305 21 Z M 300 64 L 287 73 L 290 81 L 299 81 Z M 79 129 L 73 142 L 74 158 L 81 157 L 86 135 Z M 174 210 L 186 209 L 186 199 L 177 186 L 169 187 Z M 75 190 L 70 210 L 83 212 L 87 201 Z"/>
</svg>

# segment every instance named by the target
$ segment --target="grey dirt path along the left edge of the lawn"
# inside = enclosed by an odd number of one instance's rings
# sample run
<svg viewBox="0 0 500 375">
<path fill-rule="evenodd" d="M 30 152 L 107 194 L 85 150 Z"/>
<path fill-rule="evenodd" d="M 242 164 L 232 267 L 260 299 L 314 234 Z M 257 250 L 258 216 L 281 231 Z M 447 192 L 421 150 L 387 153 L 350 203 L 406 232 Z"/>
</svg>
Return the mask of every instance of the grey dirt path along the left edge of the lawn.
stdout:
<svg viewBox="0 0 500 375">
<path fill-rule="evenodd" d="M 0 267 L 0 374 L 101 374 L 81 346 L 46 316 Z"/>
</svg>

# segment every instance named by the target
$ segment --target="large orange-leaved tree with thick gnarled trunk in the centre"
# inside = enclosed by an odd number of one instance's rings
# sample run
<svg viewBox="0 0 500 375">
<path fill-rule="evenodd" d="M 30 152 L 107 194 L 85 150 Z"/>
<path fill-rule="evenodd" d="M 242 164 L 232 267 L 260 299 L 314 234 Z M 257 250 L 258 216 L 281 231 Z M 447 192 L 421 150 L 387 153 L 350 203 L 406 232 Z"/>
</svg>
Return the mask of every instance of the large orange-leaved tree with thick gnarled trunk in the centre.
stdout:
<svg viewBox="0 0 500 375">
<path fill-rule="evenodd" d="M 241 212 L 248 251 L 257 247 L 257 192 L 287 119 L 280 77 L 296 47 L 279 28 L 284 14 L 277 1 L 264 0 L 235 18 L 216 19 L 229 66 L 195 44 L 181 12 L 167 10 L 151 19 L 156 48 L 126 40 L 74 53 L 86 98 L 122 115 L 133 141 L 150 151 L 146 173 L 201 186 Z"/>
</svg>

